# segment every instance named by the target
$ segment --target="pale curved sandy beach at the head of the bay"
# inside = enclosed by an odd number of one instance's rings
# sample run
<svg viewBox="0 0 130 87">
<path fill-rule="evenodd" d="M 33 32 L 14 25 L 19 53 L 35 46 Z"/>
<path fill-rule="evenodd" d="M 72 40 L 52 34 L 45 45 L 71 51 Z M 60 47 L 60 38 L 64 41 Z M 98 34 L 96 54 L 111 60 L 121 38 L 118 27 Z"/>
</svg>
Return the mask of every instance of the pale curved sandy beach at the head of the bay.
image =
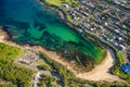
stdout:
<svg viewBox="0 0 130 87">
<path fill-rule="evenodd" d="M 114 62 L 115 62 L 114 53 L 110 49 L 108 49 L 107 57 L 100 65 L 98 65 L 91 72 L 77 74 L 77 76 L 90 80 L 107 80 L 107 82 L 121 80 L 118 76 L 112 75 L 109 73 L 109 69 L 114 65 Z"/>
</svg>

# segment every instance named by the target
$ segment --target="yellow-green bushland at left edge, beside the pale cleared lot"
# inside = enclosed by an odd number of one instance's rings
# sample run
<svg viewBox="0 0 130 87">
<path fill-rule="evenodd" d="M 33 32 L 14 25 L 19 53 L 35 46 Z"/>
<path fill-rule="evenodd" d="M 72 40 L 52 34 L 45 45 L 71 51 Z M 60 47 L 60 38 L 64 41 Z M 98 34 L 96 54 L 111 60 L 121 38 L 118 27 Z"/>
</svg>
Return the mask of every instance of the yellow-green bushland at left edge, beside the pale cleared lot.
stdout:
<svg viewBox="0 0 130 87">
<path fill-rule="evenodd" d="M 23 52 L 20 48 L 0 42 L 0 78 L 11 82 L 18 87 L 28 87 L 32 77 L 32 71 L 20 67 L 13 63 L 14 59 Z M 3 85 L 3 87 L 8 86 Z"/>
</svg>

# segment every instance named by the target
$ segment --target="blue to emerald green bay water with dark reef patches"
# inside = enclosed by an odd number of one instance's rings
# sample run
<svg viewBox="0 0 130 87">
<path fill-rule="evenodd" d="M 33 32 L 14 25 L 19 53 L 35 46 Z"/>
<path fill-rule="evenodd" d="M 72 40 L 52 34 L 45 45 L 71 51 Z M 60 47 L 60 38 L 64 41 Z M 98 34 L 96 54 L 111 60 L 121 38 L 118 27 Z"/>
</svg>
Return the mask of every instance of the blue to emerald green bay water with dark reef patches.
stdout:
<svg viewBox="0 0 130 87">
<path fill-rule="evenodd" d="M 0 25 L 17 44 L 38 45 L 69 60 L 99 61 L 104 51 L 65 25 L 37 0 L 0 0 Z"/>
</svg>

